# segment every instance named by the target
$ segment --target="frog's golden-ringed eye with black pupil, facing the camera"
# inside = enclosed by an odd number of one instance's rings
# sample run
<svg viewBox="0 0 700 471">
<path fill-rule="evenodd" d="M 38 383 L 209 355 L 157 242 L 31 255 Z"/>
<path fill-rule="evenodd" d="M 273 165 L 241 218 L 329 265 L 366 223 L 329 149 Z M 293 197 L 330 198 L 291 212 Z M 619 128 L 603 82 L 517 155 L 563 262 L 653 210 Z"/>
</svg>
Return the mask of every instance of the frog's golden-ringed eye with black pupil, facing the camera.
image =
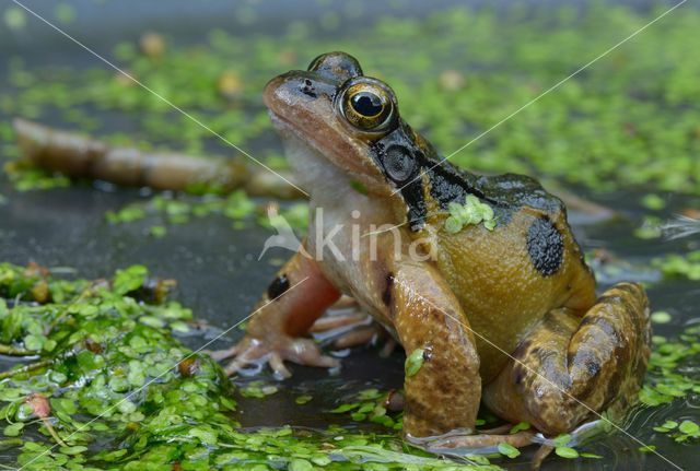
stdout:
<svg viewBox="0 0 700 471">
<path fill-rule="evenodd" d="M 374 83 L 351 84 L 340 101 L 342 115 L 363 131 L 378 132 L 393 121 L 394 99 L 390 92 Z"/>
</svg>

